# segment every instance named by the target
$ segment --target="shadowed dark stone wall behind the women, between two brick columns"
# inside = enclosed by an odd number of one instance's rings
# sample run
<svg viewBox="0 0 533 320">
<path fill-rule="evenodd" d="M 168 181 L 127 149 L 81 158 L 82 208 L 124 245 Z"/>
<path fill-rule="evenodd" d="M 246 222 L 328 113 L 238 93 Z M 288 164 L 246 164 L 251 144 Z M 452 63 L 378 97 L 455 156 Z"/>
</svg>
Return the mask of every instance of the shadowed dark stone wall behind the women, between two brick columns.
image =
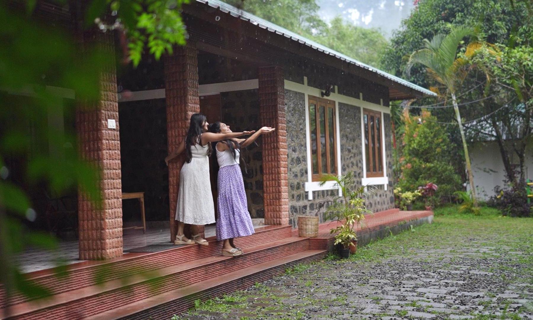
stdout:
<svg viewBox="0 0 533 320">
<path fill-rule="evenodd" d="M 233 132 L 257 130 L 260 128 L 259 95 L 257 90 L 243 90 L 221 93 L 223 123 L 230 125 Z M 263 208 L 263 161 L 261 137 L 241 153 L 241 169 L 248 198 L 248 211 L 252 218 L 264 218 Z M 244 162 L 248 164 L 247 172 Z"/>
</svg>

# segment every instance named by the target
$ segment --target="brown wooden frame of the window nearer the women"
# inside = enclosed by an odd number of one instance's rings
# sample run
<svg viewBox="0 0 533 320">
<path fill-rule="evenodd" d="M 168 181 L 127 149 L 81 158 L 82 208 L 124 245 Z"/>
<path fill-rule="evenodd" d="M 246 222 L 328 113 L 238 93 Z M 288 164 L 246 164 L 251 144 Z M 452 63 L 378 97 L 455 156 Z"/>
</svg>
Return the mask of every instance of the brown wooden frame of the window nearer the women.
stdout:
<svg viewBox="0 0 533 320">
<path fill-rule="evenodd" d="M 316 101 L 316 103 L 312 103 L 311 101 Z M 322 154 L 322 147 L 321 147 L 321 144 L 320 144 L 320 109 L 319 109 L 319 105 L 320 105 L 320 102 L 322 102 L 322 104 L 324 105 L 325 109 L 324 109 L 324 129 L 326 131 L 326 167 L 327 167 L 327 170 L 328 172 L 320 172 L 321 171 L 321 168 L 322 168 L 322 157 L 321 157 L 321 154 Z M 332 101 L 332 100 L 328 100 L 328 99 L 322 99 L 322 98 L 318 98 L 318 97 L 313 97 L 312 95 L 309 95 L 308 97 L 308 103 L 309 103 L 309 110 L 308 110 L 308 113 L 309 113 L 309 139 L 310 139 L 310 156 L 311 158 L 309 159 L 310 162 L 311 162 L 311 181 L 319 181 L 320 178 L 322 177 L 323 174 L 338 174 L 338 167 L 337 167 L 337 157 L 338 157 L 338 154 L 337 154 L 337 110 L 336 110 L 336 107 L 335 107 L 335 101 Z M 314 116 L 315 116 L 315 124 L 316 124 L 316 137 L 317 137 L 317 166 L 318 166 L 318 172 L 319 173 L 313 173 L 313 149 L 312 149 L 312 144 L 313 144 L 313 141 L 311 140 L 312 138 L 312 131 L 311 131 L 311 105 L 314 104 Z M 331 154 L 331 148 L 332 146 L 330 146 L 330 143 L 329 143 L 329 116 L 328 116 L 328 108 L 332 109 L 333 110 L 333 148 L 334 148 L 334 159 L 331 159 L 330 157 L 330 154 Z M 330 172 L 331 170 L 331 162 L 334 162 L 334 166 L 335 166 L 335 172 Z"/>
</svg>

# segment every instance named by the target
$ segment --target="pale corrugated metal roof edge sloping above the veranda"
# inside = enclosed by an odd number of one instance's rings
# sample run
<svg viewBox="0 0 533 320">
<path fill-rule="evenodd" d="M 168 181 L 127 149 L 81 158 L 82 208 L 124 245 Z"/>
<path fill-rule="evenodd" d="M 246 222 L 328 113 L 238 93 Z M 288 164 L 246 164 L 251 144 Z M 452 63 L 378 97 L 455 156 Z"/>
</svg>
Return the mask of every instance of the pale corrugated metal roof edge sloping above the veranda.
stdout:
<svg viewBox="0 0 533 320">
<path fill-rule="evenodd" d="M 293 31 L 289 31 L 289 30 L 287 30 L 285 28 L 282 28 L 282 27 L 280 27 L 280 26 L 278 26 L 278 25 L 276 25 L 276 24 L 274 24 L 274 23 L 272 23 L 270 21 L 266 21 L 264 19 L 261 19 L 261 18 L 257 17 L 256 15 L 253 15 L 252 13 L 243 11 L 241 9 L 237 9 L 236 7 L 234 7 L 232 5 L 229 5 L 229 4 L 225 3 L 225 2 L 222 2 L 220 0 L 196 0 L 196 1 L 200 2 L 200 3 L 208 4 L 209 6 L 217 8 L 217 9 L 219 9 L 220 11 L 222 11 L 224 13 L 229 13 L 233 17 L 240 18 L 240 19 L 243 19 L 245 21 L 248 21 L 248 22 L 252 23 L 255 26 L 258 26 L 260 28 L 263 28 L 263 29 L 271 31 L 272 33 L 276 33 L 276 34 L 285 36 L 287 38 L 290 38 L 293 41 L 308 45 L 308 46 L 312 47 L 315 50 L 318 50 L 320 52 L 324 52 L 325 54 L 328 54 L 328 55 L 332 55 L 332 56 L 334 56 L 337 59 L 341 59 L 343 61 L 347 61 L 349 63 L 352 63 L 353 65 L 356 65 L 356 66 L 358 66 L 360 68 L 364 68 L 364 69 L 367 69 L 369 71 L 373 71 L 374 73 L 377 73 L 378 75 L 381 75 L 381 76 L 383 76 L 383 77 L 385 77 L 387 79 L 390 79 L 390 80 L 392 80 L 394 82 L 397 82 L 397 83 L 399 83 L 401 85 L 410 87 L 411 89 L 414 89 L 416 91 L 422 92 L 422 93 L 427 94 L 427 95 L 437 95 L 434 92 L 425 89 L 424 87 L 421 87 L 421 86 L 416 85 L 414 83 L 410 83 L 410 82 L 408 82 L 408 81 L 406 81 L 406 80 L 404 80 L 402 78 L 399 78 L 397 76 L 393 76 L 393 75 L 391 75 L 389 73 L 386 73 L 385 71 L 376 69 L 376 68 L 374 68 L 372 66 L 369 66 L 369 65 L 366 65 L 365 63 L 362 63 L 360 61 L 357 61 L 356 59 L 348 57 L 348 55 L 342 54 L 342 53 L 337 52 L 337 51 L 335 51 L 333 49 L 329 49 L 328 47 L 326 47 L 324 45 L 321 45 L 321 44 L 319 44 L 317 42 L 314 42 L 311 39 L 305 38 L 305 37 L 303 37 L 301 35 L 298 35 L 298 34 L 294 33 Z"/>
</svg>

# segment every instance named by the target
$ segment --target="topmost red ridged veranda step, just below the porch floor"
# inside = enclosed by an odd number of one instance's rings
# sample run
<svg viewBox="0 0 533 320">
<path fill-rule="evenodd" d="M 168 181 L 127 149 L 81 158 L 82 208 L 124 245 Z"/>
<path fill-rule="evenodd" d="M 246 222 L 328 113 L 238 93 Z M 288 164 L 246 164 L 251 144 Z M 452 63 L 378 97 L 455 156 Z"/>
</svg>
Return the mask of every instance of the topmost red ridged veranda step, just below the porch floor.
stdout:
<svg viewBox="0 0 533 320">
<path fill-rule="evenodd" d="M 243 250 L 252 245 L 272 241 L 272 239 L 287 238 L 291 236 L 291 226 L 265 226 L 256 229 L 256 232 L 248 237 L 238 238 L 235 244 Z M 52 294 L 68 292 L 74 289 L 107 282 L 113 279 L 123 278 L 134 274 L 148 272 L 179 263 L 198 260 L 220 253 L 222 242 L 217 242 L 216 237 L 207 238 L 208 246 L 187 245 L 153 253 L 129 253 L 124 257 L 107 261 L 87 261 L 67 266 L 68 276 L 58 277 L 53 270 L 36 271 L 26 276 L 38 285 L 49 289 Z M 14 295 L 9 301 L 13 306 L 18 303 L 29 301 L 23 295 Z M 7 306 L 5 292 L 0 287 L 0 309 Z"/>
</svg>

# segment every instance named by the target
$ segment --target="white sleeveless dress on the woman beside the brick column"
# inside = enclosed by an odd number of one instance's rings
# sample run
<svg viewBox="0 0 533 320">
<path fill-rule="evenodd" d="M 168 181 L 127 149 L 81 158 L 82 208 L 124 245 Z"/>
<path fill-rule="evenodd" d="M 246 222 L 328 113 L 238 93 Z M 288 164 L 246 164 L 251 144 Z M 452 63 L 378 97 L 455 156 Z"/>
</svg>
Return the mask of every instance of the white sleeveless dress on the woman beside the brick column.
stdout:
<svg viewBox="0 0 533 320">
<path fill-rule="evenodd" d="M 176 220 L 191 225 L 215 223 L 215 206 L 209 179 L 208 146 L 191 146 L 191 162 L 180 171 Z"/>
</svg>

